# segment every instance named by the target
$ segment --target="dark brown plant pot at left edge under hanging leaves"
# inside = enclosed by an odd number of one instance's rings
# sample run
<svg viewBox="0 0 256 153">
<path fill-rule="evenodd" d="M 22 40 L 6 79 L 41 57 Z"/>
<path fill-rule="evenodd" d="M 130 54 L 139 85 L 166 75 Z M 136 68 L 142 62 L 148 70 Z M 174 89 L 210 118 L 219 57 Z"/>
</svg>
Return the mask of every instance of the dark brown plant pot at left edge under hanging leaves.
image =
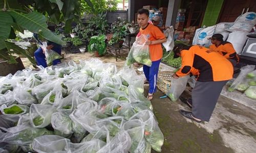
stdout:
<svg viewBox="0 0 256 153">
<path fill-rule="evenodd" d="M 20 57 L 16 57 L 15 59 L 18 62 L 17 64 L 9 64 L 8 61 L 4 60 L 0 61 L 0 76 L 6 76 L 10 73 L 14 74 L 18 70 L 25 69 Z"/>
</svg>

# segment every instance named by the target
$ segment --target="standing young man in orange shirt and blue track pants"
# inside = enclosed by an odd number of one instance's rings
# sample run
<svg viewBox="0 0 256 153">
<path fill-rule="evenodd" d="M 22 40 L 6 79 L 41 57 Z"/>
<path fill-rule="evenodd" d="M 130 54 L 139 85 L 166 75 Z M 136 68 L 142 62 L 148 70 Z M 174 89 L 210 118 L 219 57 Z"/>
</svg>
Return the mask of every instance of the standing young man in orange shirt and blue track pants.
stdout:
<svg viewBox="0 0 256 153">
<path fill-rule="evenodd" d="M 159 65 L 163 56 L 163 49 L 161 43 L 166 41 L 164 34 L 160 31 L 158 27 L 153 24 L 148 23 L 149 12 L 146 9 L 138 10 L 137 21 L 140 25 L 140 34 L 147 36 L 146 45 L 150 46 L 150 57 L 152 61 L 152 66 L 143 65 L 143 71 L 146 77 L 146 80 L 150 84 L 150 89 L 148 90 L 147 99 L 151 100 L 153 98 L 153 93 L 156 92 L 157 85 L 157 74 Z"/>
</svg>

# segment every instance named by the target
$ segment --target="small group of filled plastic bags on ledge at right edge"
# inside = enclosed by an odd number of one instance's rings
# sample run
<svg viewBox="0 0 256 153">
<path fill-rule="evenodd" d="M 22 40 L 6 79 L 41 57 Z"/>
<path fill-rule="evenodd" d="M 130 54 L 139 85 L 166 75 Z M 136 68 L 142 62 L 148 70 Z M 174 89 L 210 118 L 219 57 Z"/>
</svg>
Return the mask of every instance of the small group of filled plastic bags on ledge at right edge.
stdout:
<svg viewBox="0 0 256 153">
<path fill-rule="evenodd" d="M 227 83 L 229 92 L 238 90 L 244 92 L 245 96 L 256 99 L 256 70 L 255 65 L 242 67 L 238 77 Z"/>
</svg>

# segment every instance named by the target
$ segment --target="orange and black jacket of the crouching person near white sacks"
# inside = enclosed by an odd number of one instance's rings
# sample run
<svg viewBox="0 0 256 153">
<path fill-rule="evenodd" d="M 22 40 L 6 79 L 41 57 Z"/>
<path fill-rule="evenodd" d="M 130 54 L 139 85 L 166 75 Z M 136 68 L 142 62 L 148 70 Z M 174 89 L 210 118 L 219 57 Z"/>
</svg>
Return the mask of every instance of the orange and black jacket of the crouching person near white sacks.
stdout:
<svg viewBox="0 0 256 153">
<path fill-rule="evenodd" d="M 218 47 L 215 44 L 210 45 L 210 49 L 218 52 L 227 59 L 233 59 L 239 62 L 239 57 L 233 45 L 228 41 L 223 41 Z"/>
</svg>

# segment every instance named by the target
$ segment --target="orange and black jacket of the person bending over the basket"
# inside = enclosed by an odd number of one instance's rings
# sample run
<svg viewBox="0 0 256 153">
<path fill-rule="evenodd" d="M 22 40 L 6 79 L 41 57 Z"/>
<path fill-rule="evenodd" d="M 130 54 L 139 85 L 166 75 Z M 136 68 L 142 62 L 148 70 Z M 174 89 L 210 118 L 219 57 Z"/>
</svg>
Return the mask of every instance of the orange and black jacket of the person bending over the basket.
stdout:
<svg viewBox="0 0 256 153">
<path fill-rule="evenodd" d="M 223 56 L 202 46 L 191 46 L 181 50 L 181 68 L 176 72 L 178 77 L 189 73 L 199 75 L 197 81 L 226 81 L 232 79 L 233 66 Z"/>
</svg>

